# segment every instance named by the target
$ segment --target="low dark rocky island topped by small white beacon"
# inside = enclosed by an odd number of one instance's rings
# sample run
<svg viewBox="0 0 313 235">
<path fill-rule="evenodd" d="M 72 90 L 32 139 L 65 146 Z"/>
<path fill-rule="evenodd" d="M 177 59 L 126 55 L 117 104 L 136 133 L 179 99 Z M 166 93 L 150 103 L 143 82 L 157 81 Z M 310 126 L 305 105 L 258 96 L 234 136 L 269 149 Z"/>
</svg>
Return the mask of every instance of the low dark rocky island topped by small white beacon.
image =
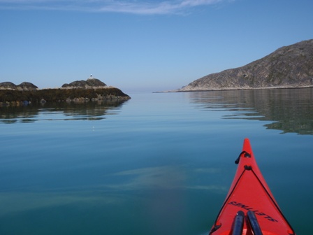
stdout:
<svg viewBox="0 0 313 235">
<path fill-rule="evenodd" d="M 46 102 L 123 101 L 131 99 L 122 90 L 107 86 L 97 78 L 77 80 L 61 88 L 38 89 L 32 83 L 0 83 L 0 106 L 20 106 Z"/>
</svg>

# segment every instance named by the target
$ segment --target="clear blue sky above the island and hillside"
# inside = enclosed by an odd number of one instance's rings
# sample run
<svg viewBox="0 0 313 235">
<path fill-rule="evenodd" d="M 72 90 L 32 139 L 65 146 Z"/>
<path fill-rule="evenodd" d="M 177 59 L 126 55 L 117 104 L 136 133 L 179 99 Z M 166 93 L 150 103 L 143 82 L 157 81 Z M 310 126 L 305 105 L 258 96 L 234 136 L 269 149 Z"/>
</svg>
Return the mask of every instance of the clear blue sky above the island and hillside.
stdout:
<svg viewBox="0 0 313 235">
<path fill-rule="evenodd" d="M 0 82 L 180 88 L 313 38 L 312 0 L 0 0 Z"/>
</svg>

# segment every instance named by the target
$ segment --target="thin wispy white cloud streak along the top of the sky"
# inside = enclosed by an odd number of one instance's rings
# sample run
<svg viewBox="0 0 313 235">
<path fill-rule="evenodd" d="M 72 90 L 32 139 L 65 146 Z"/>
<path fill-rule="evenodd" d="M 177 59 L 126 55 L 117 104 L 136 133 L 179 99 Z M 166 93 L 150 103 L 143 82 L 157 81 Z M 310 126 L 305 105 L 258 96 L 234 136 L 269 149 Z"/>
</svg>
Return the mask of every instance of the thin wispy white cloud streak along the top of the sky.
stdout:
<svg viewBox="0 0 313 235">
<path fill-rule="evenodd" d="M 103 13 L 166 15 L 186 13 L 197 6 L 226 0 L 115 1 L 115 0 L 0 0 L 0 9 L 80 10 Z"/>
</svg>

